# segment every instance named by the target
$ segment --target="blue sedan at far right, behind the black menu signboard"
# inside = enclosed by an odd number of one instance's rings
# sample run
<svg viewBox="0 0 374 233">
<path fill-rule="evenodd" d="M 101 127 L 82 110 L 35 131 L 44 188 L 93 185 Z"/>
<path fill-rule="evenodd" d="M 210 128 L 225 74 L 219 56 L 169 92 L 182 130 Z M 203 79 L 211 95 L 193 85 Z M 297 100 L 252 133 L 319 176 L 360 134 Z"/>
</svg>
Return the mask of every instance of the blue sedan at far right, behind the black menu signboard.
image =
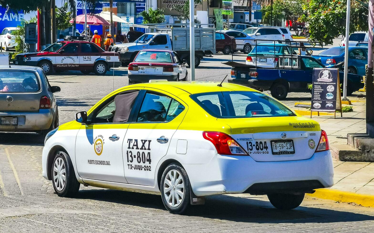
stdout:
<svg viewBox="0 0 374 233">
<path fill-rule="evenodd" d="M 344 50 L 344 46 L 332 47 L 318 55 L 313 55 L 313 57 L 320 60 L 326 67 L 332 67 L 344 61 Z M 368 48 L 349 47 L 348 51 L 348 73 L 365 75 L 365 65 L 368 64 Z"/>
</svg>

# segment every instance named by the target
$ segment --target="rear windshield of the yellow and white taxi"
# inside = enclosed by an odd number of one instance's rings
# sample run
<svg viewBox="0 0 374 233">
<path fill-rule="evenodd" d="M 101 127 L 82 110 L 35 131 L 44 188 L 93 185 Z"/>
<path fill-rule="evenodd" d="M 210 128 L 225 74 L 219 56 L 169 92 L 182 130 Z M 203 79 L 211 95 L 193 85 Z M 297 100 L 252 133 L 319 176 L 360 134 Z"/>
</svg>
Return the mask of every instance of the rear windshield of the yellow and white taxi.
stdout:
<svg viewBox="0 0 374 233">
<path fill-rule="evenodd" d="M 289 108 L 260 92 L 208 92 L 193 94 L 191 98 L 218 118 L 295 116 Z"/>
</svg>

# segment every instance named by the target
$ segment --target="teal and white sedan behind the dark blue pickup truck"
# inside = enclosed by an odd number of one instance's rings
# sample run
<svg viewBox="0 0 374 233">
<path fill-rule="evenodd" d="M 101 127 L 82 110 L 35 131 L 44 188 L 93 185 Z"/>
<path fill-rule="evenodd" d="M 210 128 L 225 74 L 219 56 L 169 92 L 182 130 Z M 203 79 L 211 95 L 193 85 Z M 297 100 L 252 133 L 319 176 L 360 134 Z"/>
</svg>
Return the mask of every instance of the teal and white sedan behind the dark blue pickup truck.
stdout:
<svg viewBox="0 0 374 233">
<path fill-rule="evenodd" d="M 278 64 L 278 57 L 289 54 L 292 54 L 292 48 L 287 44 L 257 44 L 252 51 L 248 53 L 245 64 L 264 68 L 275 68 Z"/>
</svg>

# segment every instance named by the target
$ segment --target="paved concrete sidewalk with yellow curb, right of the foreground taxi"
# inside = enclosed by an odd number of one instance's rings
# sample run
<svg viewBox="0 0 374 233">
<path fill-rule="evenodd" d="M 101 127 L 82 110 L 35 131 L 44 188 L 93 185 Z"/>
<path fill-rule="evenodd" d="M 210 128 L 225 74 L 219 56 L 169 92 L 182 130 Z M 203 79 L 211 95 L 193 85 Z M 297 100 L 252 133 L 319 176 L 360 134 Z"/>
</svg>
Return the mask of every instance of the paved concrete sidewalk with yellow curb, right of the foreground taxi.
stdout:
<svg viewBox="0 0 374 233">
<path fill-rule="evenodd" d="M 366 98 L 361 97 L 362 94 L 365 95 L 365 92 L 355 92 L 355 94 L 356 96 L 349 97 L 349 100 L 352 101 L 353 112 L 343 113 L 343 117 L 337 113 L 335 119 L 334 113 L 324 113 L 321 116 L 313 115 L 312 117 L 321 125 L 321 129 L 327 132 L 330 145 L 347 144 L 348 133 L 366 133 Z M 283 101 L 283 103 L 297 110 L 298 114 L 309 118 L 310 111 L 294 107 L 295 100 L 300 102 L 299 99 L 302 99 L 304 102 L 308 102 L 305 93 L 293 99 L 292 101 Z M 359 205 L 374 207 L 374 163 L 337 160 L 333 162 L 334 186 L 328 189 L 318 189 L 309 196 L 339 202 L 355 202 Z"/>
</svg>

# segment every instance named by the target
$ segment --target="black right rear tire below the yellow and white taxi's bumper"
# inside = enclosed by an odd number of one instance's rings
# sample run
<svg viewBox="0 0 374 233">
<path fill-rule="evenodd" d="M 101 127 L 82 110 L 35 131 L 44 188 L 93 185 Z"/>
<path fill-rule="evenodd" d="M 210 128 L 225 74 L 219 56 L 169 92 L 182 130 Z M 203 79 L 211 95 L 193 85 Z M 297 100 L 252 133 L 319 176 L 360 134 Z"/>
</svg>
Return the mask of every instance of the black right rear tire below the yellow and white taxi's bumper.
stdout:
<svg viewBox="0 0 374 233">
<path fill-rule="evenodd" d="M 292 210 L 303 202 L 305 193 L 288 194 L 288 193 L 272 193 L 268 194 L 270 203 L 280 210 Z"/>
</svg>

